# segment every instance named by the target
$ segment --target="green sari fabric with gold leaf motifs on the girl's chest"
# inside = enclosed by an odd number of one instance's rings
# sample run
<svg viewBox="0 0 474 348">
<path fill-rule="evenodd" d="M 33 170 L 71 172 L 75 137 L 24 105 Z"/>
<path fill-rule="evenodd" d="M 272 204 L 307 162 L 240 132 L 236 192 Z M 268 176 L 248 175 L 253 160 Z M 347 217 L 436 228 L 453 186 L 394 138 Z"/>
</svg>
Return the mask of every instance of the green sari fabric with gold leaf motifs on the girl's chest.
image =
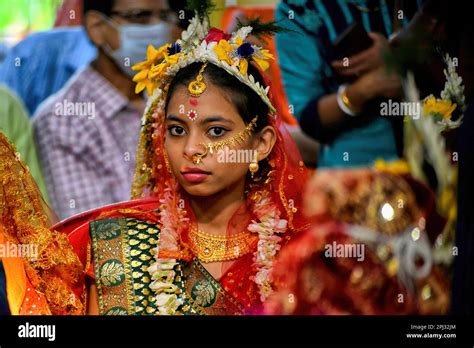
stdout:
<svg viewBox="0 0 474 348">
<path fill-rule="evenodd" d="M 101 315 L 156 315 L 148 267 L 154 262 L 160 227 L 135 218 L 90 223 L 94 273 Z M 179 260 L 175 285 L 184 304 L 178 314 L 237 315 L 242 306 L 203 265 Z"/>
</svg>

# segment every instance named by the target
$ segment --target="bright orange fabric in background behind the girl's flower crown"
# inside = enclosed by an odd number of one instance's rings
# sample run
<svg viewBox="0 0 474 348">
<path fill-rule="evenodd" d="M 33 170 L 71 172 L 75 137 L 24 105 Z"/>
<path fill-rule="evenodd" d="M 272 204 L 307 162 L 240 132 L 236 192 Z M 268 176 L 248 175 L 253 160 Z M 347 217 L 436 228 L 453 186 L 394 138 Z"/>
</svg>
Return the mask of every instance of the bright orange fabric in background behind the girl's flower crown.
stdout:
<svg viewBox="0 0 474 348">
<path fill-rule="evenodd" d="M 273 7 L 246 7 L 246 6 L 229 6 L 225 9 L 224 15 L 222 17 L 222 28 L 224 31 L 229 32 L 233 28 L 231 28 L 235 17 L 238 14 L 244 14 L 247 18 L 255 18 L 260 17 L 262 21 L 269 22 L 274 20 L 275 16 L 275 9 Z M 271 39 L 267 39 L 266 48 L 270 50 L 270 52 L 275 56 L 275 60 L 270 62 L 270 69 L 266 72 L 270 81 L 272 82 L 272 94 L 273 94 L 273 102 L 275 104 L 275 108 L 277 109 L 278 115 L 281 117 L 282 121 L 288 125 L 296 126 L 298 125 L 298 121 L 296 118 L 290 113 L 288 100 L 286 98 L 285 89 L 283 87 L 283 82 L 281 78 L 280 67 L 278 65 L 278 55 L 275 45 L 275 39 L 272 37 Z"/>
</svg>

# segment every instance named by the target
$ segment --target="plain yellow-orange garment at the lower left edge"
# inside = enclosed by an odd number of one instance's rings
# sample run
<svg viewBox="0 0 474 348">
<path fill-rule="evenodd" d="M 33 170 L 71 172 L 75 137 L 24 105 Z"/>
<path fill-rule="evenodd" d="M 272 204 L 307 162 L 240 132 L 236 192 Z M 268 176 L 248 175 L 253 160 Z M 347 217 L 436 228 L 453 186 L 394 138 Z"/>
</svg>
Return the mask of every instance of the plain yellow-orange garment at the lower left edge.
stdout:
<svg viewBox="0 0 474 348">
<path fill-rule="evenodd" d="M 6 244 L 3 227 L 0 226 L 0 244 Z M 7 298 L 10 312 L 18 315 L 26 292 L 26 272 L 23 259 L 19 257 L 2 257 L 7 284 Z"/>
</svg>

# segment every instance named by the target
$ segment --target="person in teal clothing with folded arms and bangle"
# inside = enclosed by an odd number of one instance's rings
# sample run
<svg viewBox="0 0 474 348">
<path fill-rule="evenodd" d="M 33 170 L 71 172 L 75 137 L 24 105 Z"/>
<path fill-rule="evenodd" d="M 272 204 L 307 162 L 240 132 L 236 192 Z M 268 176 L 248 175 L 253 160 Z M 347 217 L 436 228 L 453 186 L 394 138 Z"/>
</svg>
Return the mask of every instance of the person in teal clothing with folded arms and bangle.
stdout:
<svg viewBox="0 0 474 348">
<path fill-rule="evenodd" d="M 397 98 L 400 79 L 388 73 L 387 37 L 408 23 L 417 1 L 282 1 L 276 20 L 290 29 L 276 35 L 285 91 L 303 131 L 321 142 L 318 167 L 371 165 L 402 151 L 402 117 L 380 117 L 381 98 Z M 402 11 L 402 18 L 398 10 Z M 363 24 L 372 47 L 349 64 L 335 60 L 333 44 L 352 23 Z M 357 45 L 357 43 L 354 43 Z M 351 83 L 341 79 L 353 78 Z M 347 107 L 342 109 L 342 100 Z"/>
</svg>

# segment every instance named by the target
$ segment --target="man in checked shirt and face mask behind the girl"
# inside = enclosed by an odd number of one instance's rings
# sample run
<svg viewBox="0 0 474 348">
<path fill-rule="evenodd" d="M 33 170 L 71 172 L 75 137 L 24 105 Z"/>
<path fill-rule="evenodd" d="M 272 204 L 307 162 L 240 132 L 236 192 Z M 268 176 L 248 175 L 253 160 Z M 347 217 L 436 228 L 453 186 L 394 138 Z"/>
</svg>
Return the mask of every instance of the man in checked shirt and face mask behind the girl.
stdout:
<svg viewBox="0 0 474 348">
<path fill-rule="evenodd" d="M 183 6 L 184 7 L 184 6 Z M 180 34 L 160 0 L 84 1 L 97 58 L 38 109 L 35 135 L 54 210 L 61 218 L 130 197 L 143 95 L 131 66 L 149 44 Z"/>
</svg>

